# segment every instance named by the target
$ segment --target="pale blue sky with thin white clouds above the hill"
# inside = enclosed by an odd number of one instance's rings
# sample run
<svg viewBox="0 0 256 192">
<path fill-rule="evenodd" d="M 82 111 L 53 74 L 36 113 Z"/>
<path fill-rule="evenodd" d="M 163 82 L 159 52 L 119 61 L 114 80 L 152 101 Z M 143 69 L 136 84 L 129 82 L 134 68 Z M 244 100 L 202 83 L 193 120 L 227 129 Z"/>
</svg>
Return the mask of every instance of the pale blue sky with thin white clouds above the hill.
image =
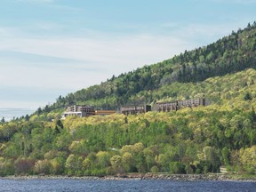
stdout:
<svg viewBox="0 0 256 192">
<path fill-rule="evenodd" d="M 0 118 L 211 44 L 256 0 L 1 0 Z"/>
</svg>

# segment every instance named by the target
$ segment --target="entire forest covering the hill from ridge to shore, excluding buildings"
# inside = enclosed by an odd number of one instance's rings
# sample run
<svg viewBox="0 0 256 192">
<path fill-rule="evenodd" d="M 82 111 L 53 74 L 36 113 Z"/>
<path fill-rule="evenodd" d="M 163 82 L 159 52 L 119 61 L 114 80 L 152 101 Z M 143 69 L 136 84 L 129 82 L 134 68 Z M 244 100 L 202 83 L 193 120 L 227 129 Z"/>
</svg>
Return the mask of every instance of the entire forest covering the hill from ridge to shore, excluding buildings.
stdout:
<svg viewBox="0 0 256 192">
<path fill-rule="evenodd" d="M 256 23 L 170 60 L 0 124 L 0 175 L 103 176 L 128 172 L 256 173 Z M 70 105 L 205 97 L 208 105 L 137 116 L 75 116 Z"/>
</svg>

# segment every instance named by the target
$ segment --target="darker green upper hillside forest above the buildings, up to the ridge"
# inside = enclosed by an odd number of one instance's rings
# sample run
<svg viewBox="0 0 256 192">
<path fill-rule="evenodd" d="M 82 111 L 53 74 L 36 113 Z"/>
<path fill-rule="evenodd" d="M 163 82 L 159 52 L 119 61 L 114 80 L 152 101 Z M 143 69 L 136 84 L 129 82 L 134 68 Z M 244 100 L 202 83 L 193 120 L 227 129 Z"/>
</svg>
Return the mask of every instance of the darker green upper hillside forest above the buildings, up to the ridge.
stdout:
<svg viewBox="0 0 256 192">
<path fill-rule="evenodd" d="M 245 68 L 256 68 L 256 22 L 248 24 L 243 30 L 233 31 L 231 35 L 213 44 L 185 51 L 155 65 L 138 68 L 117 77 L 112 76 L 100 85 L 69 93 L 66 97 L 60 96 L 45 111 L 64 109 L 73 104 L 116 109 L 121 105 L 151 103 L 159 99 L 152 97 L 151 91 L 164 85 L 201 82 L 212 76 L 224 76 Z M 143 98 L 137 96 L 138 93 L 141 95 L 140 92 L 144 92 Z M 177 99 L 176 92 L 169 96 Z"/>
</svg>

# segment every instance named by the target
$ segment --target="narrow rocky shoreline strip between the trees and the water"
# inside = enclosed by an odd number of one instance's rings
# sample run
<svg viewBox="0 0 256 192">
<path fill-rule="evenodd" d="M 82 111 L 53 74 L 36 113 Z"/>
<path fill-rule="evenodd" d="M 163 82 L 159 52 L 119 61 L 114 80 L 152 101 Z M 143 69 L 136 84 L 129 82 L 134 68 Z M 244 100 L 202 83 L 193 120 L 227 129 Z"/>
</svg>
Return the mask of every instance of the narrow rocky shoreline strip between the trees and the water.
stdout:
<svg viewBox="0 0 256 192">
<path fill-rule="evenodd" d="M 160 174 L 138 173 L 125 175 L 95 176 L 62 176 L 62 175 L 12 175 L 0 177 L 0 180 L 173 180 L 173 181 L 243 181 L 256 182 L 256 175 L 237 174 Z"/>
</svg>

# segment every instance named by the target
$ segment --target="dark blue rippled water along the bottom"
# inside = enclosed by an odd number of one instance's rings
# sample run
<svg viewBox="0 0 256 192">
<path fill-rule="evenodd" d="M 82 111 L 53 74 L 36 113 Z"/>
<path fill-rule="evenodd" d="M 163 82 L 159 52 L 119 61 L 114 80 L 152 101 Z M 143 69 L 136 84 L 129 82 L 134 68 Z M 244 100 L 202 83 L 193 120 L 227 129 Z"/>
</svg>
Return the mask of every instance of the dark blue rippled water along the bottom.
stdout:
<svg viewBox="0 0 256 192">
<path fill-rule="evenodd" d="M 171 180 L 0 180 L 0 191 L 256 191 L 256 182 Z"/>
</svg>

